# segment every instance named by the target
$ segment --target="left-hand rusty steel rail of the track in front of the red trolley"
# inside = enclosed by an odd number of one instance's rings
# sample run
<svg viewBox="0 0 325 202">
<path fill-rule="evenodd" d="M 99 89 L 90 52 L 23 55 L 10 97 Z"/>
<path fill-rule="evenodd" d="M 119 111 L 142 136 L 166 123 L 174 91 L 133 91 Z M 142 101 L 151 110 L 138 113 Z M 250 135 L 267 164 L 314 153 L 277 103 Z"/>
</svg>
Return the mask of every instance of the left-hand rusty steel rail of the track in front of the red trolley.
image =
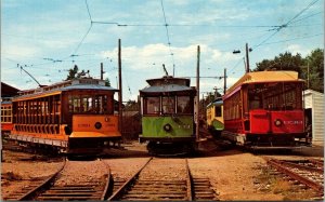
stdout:
<svg viewBox="0 0 325 202">
<path fill-rule="evenodd" d="M 282 165 L 281 163 L 278 163 L 276 160 L 274 161 L 274 159 L 269 159 L 268 163 L 271 164 L 272 166 L 274 166 L 276 170 L 285 173 L 286 175 L 290 176 L 291 178 L 303 183 L 304 185 L 309 186 L 310 188 L 316 190 L 317 192 L 323 192 L 324 191 L 324 187 L 313 180 L 310 180 L 288 169 L 286 169 L 284 165 Z"/>
</svg>

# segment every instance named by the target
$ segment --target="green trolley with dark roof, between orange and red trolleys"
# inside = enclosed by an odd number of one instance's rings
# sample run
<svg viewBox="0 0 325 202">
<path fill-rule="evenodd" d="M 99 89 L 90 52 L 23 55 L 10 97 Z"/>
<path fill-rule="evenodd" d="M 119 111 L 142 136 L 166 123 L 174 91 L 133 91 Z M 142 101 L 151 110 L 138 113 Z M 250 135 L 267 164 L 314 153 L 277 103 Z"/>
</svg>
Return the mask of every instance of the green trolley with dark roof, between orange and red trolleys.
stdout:
<svg viewBox="0 0 325 202">
<path fill-rule="evenodd" d="M 177 156 L 193 151 L 195 145 L 194 97 L 190 79 L 165 76 L 146 80 L 140 91 L 142 134 L 151 154 Z"/>
</svg>

